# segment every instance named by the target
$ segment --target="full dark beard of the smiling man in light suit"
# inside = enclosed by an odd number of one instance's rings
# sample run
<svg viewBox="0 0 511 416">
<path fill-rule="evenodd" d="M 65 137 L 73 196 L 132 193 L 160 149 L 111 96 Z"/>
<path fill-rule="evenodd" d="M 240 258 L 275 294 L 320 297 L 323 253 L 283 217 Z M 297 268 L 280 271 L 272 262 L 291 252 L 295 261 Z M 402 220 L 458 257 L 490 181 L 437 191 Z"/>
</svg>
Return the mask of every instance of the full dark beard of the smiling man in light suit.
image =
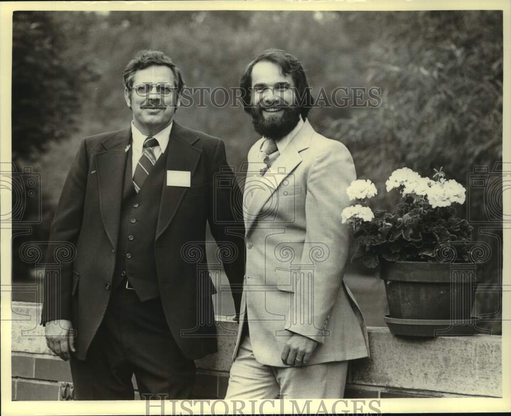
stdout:
<svg viewBox="0 0 511 416">
<path fill-rule="evenodd" d="M 298 106 L 281 106 L 283 114 L 281 117 L 265 119 L 264 110 L 260 105 L 252 108 L 252 124 L 254 130 L 261 136 L 272 140 L 280 140 L 288 135 L 300 120 L 300 108 Z"/>
</svg>

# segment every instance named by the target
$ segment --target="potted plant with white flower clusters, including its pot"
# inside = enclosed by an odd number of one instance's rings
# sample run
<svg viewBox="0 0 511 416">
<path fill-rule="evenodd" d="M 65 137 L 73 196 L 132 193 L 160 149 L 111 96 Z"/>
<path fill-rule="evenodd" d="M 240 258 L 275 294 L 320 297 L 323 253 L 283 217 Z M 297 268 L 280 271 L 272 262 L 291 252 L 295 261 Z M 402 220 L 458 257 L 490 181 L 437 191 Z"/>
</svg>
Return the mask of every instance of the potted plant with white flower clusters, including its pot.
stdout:
<svg viewBox="0 0 511 416">
<path fill-rule="evenodd" d="M 380 266 L 390 313 L 385 322 L 395 335 L 466 335 L 474 328 L 472 226 L 452 206 L 464 203 L 465 189 L 442 168 L 435 172 L 429 179 L 406 167 L 394 170 L 386 181 L 387 192 L 401 194 L 393 212 L 367 205 L 377 194 L 369 180 L 346 190 L 355 201 L 341 214 L 358 240 L 352 261 Z"/>
</svg>

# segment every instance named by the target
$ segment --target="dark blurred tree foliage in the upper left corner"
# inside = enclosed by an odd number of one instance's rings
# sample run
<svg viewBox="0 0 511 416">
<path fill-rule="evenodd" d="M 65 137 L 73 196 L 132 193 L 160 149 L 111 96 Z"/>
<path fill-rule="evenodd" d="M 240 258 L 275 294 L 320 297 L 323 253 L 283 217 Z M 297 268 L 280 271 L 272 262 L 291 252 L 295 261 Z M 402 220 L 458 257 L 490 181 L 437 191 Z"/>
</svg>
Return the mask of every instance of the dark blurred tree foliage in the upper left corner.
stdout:
<svg viewBox="0 0 511 416">
<path fill-rule="evenodd" d="M 80 13 L 81 14 L 81 13 Z M 83 16 L 83 14 L 81 14 Z M 76 16 L 76 17 L 82 17 Z M 68 51 L 73 27 L 55 14 L 14 12 L 12 42 L 12 157 L 34 160 L 50 141 L 78 127 L 82 94 L 96 78 L 87 57 Z"/>
</svg>

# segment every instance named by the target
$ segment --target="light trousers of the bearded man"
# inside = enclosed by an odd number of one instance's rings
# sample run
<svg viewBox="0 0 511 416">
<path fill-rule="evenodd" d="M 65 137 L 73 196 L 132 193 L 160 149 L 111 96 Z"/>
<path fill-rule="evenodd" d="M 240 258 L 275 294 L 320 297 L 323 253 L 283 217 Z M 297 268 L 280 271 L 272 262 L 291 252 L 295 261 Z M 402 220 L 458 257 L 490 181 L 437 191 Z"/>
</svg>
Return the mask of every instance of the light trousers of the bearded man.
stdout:
<svg viewBox="0 0 511 416">
<path fill-rule="evenodd" d="M 347 368 L 347 361 L 301 367 L 260 364 L 247 334 L 230 369 L 225 399 L 342 399 Z"/>
</svg>

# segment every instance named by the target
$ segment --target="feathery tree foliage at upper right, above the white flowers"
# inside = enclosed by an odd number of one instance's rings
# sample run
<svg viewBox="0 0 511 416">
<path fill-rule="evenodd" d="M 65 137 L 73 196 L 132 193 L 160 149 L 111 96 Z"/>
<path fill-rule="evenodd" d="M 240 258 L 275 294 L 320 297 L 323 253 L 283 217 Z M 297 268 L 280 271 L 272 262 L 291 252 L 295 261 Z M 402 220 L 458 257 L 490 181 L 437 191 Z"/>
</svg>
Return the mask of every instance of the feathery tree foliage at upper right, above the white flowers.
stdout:
<svg viewBox="0 0 511 416">
<path fill-rule="evenodd" d="M 355 13 L 351 23 L 373 31 L 361 70 L 364 84 L 381 88 L 381 105 L 324 126 L 350 148 L 359 177 L 444 166 L 467 186 L 474 166 L 493 169 L 502 159 L 502 13 Z M 484 215 L 480 201 L 468 204 Z"/>
</svg>

